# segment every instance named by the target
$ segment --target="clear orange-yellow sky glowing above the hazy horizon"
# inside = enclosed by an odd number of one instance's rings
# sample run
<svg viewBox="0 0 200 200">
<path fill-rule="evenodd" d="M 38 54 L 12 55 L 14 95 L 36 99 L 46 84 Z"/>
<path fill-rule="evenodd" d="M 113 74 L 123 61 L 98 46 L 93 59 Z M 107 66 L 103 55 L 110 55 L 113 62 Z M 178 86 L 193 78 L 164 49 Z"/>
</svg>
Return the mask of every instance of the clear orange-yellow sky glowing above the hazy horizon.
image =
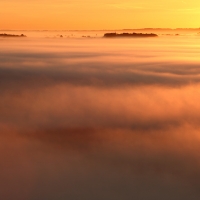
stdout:
<svg viewBox="0 0 200 200">
<path fill-rule="evenodd" d="M 198 28 L 196 0 L 1 0 L 0 29 Z"/>
</svg>

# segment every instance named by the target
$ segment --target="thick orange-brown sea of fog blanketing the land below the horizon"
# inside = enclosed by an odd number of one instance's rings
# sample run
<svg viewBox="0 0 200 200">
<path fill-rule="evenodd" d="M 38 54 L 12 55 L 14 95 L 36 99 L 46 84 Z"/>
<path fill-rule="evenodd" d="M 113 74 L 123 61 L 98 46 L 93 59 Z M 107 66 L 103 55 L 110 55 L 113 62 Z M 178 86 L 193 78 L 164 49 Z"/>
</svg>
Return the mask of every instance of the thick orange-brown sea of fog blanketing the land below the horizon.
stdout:
<svg viewBox="0 0 200 200">
<path fill-rule="evenodd" d="M 0 38 L 0 199 L 200 197 L 200 36 L 25 34 Z"/>
</svg>

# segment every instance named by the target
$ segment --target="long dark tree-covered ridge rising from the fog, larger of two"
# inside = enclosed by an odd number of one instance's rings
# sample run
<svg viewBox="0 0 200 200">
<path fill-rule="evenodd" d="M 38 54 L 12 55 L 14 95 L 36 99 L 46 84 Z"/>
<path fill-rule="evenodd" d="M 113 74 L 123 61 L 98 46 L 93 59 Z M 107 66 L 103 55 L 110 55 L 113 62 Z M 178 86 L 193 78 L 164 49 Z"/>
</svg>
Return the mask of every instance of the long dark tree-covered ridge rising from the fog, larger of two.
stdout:
<svg viewBox="0 0 200 200">
<path fill-rule="evenodd" d="M 104 37 L 116 38 L 116 37 L 157 37 L 154 33 L 105 33 Z"/>
</svg>

